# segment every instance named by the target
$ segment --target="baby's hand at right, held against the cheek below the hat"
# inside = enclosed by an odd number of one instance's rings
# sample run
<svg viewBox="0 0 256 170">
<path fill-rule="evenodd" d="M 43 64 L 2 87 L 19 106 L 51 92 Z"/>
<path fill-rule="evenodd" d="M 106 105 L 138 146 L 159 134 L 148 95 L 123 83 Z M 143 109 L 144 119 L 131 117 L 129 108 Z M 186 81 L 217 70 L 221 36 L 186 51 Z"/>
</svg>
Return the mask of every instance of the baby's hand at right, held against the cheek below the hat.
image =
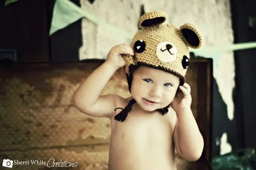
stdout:
<svg viewBox="0 0 256 170">
<path fill-rule="evenodd" d="M 192 103 L 192 97 L 190 94 L 191 88 L 187 83 L 184 83 L 183 86 L 179 86 L 181 93 L 177 95 L 172 100 L 171 107 L 177 113 L 183 111 L 184 109 L 190 109 Z"/>
</svg>

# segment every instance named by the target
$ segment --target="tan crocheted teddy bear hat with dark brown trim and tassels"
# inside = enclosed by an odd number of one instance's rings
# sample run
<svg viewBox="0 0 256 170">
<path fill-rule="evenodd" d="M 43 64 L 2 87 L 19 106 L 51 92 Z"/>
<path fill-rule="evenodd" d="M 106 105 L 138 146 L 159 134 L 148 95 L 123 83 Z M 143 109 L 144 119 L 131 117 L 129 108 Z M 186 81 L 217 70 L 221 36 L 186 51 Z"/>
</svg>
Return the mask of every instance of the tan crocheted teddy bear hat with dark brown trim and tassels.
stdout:
<svg viewBox="0 0 256 170">
<path fill-rule="evenodd" d="M 202 45 L 201 35 L 195 26 L 185 23 L 180 28 L 176 28 L 172 24 L 163 24 L 167 19 L 166 16 L 163 11 L 151 11 L 141 16 L 138 21 L 141 29 L 134 35 L 130 44 L 134 49 L 134 56 L 124 56 L 130 92 L 132 74 L 141 65 L 174 74 L 180 78 L 180 82 L 184 82 L 189 67 L 189 47 L 196 49 Z M 122 116 L 119 113 L 115 119 L 124 121 L 135 102 L 132 99 L 128 108 L 120 112 Z M 159 111 L 164 115 L 168 108 L 169 106 Z"/>
</svg>

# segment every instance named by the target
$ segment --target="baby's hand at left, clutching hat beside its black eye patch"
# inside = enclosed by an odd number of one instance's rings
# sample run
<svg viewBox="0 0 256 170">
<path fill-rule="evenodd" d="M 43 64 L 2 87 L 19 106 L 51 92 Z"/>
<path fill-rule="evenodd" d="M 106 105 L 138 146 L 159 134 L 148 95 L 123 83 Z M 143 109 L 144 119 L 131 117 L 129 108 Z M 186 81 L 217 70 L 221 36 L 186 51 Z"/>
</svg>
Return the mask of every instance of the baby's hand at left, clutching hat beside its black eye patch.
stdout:
<svg viewBox="0 0 256 170">
<path fill-rule="evenodd" d="M 125 65 L 125 60 L 123 59 L 122 54 L 129 54 L 133 56 L 134 51 L 129 45 L 116 45 L 109 51 L 106 62 L 118 69 Z"/>
</svg>

